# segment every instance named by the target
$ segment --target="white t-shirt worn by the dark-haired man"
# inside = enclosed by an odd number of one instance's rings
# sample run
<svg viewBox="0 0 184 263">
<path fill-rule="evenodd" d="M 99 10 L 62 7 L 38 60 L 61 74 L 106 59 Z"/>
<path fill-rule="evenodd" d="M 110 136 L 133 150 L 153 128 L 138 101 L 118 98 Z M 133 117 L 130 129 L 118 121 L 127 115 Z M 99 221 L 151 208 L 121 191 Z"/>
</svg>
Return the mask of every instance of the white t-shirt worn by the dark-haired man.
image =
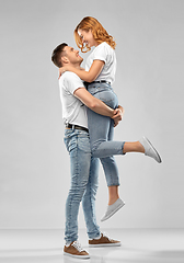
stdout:
<svg viewBox="0 0 184 263">
<path fill-rule="evenodd" d="M 67 71 L 59 79 L 62 118 L 65 124 L 88 128 L 85 105 L 73 95 L 79 88 L 84 88 L 82 80 L 73 72 Z"/>
</svg>

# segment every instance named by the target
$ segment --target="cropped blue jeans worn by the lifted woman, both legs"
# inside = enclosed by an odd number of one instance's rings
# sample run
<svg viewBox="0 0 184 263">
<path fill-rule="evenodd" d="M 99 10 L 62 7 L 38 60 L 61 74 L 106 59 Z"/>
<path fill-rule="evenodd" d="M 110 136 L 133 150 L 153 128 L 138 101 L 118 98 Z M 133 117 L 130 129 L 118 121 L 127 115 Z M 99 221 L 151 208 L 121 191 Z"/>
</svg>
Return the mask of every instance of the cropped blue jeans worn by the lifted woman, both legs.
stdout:
<svg viewBox="0 0 184 263">
<path fill-rule="evenodd" d="M 118 106 L 118 100 L 107 83 L 91 83 L 88 91 L 112 108 Z M 88 126 L 92 156 L 100 158 L 107 186 L 119 185 L 119 176 L 114 155 L 123 155 L 125 141 L 113 141 L 114 121 L 88 108 Z"/>
</svg>

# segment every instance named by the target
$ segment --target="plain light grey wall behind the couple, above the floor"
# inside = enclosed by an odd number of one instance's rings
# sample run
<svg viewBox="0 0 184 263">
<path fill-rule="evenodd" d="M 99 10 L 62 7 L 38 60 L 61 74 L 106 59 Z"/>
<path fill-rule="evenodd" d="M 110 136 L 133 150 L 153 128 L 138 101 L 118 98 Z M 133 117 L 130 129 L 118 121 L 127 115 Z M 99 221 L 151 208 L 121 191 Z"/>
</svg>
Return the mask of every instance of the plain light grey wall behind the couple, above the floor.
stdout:
<svg viewBox="0 0 184 263">
<path fill-rule="evenodd" d="M 117 157 L 126 206 L 105 228 L 184 227 L 184 1 L 0 1 L 0 228 L 64 228 L 70 185 L 58 70 L 51 50 L 96 18 L 116 42 L 116 140 L 150 138 L 162 156 Z M 84 59 L 88 54 L 83 55 Z M 97 220 L 107 204 L 100 169 Z M 84 227 L 82 209 L 79 227 Z"/>
</svg>

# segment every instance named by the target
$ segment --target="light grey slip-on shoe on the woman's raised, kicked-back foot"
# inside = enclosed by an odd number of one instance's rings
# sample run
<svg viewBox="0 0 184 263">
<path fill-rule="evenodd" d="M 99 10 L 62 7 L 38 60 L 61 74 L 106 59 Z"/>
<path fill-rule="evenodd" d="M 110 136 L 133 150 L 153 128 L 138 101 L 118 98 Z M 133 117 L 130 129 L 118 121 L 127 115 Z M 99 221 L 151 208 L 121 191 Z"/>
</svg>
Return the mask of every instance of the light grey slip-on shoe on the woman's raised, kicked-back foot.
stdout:
<svg viewBox="0 0 184 263">
<path fill-rule="evenodd" d="M 159 152 L 154 149 L 154 147 L 146 137 L 142 137 L 139 140 L 139 142 L 143 146 L 146 156 L 153 158 L 159 163 L 162 162 L 161 157 L 159 156 Z"/>
</svg>

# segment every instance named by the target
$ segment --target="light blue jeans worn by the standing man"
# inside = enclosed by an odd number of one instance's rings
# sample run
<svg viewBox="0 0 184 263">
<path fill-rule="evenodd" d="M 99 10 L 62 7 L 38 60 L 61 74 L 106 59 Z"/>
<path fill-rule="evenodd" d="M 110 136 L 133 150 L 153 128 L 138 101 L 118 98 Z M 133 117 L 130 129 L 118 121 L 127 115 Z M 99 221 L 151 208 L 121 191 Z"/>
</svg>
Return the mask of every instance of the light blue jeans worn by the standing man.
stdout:
<svg viewBox="0 0 184 263">
<path fill-rule="evenodd" d="M 95 217 L 99 160 L 92 158 L 89 134 L 80 129 L 66 129 L 65 144 L 70 155 L 71 185 L 66 202 L 65 240 L 78 239 L 78 213 L 80 202 L 87 224 L 89 239 L 100 236 Z"/>
</svg>

